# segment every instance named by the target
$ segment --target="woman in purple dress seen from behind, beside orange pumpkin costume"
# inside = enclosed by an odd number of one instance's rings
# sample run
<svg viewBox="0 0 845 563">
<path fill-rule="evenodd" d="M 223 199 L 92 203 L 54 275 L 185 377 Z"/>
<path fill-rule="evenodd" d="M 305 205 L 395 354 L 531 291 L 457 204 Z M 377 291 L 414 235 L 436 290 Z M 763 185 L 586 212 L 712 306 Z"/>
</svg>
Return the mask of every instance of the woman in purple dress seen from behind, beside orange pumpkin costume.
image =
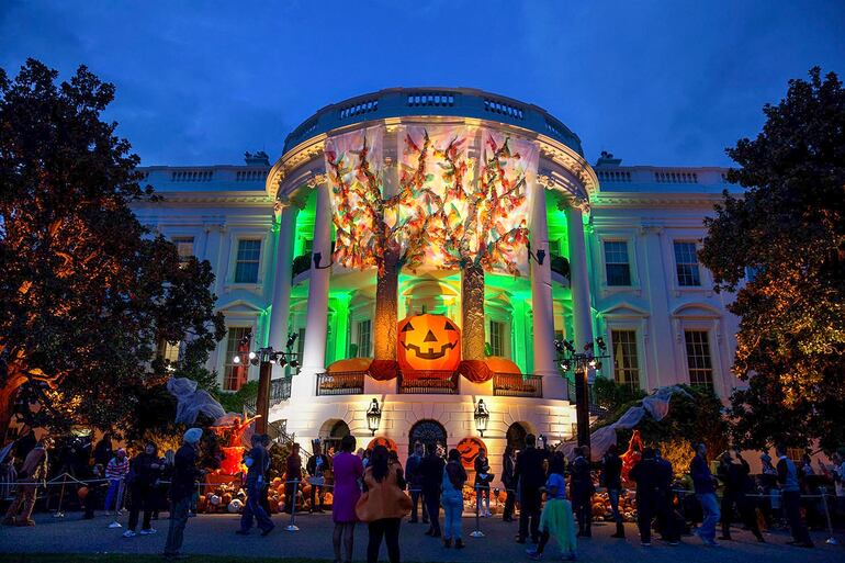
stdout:
<svg viewBox="0 0 845 563">
<path fill-rule="evenodd" d="M 364 466 L 361 458 L 352 453 L 356 448 L 353 436 L 345 436 L 340 440 L 340 453 L 335 455 L 335 496 L 331 502 L 331 519 L 335 521 L 335 562 L 348 563 L 352 561 L 352 543 L 356 518 L 356 503 L 361 496 L 359 480 L 363 477 Z M 343 542 L 346 558 L 341 559 L 340 542 Z"/>
</svg>

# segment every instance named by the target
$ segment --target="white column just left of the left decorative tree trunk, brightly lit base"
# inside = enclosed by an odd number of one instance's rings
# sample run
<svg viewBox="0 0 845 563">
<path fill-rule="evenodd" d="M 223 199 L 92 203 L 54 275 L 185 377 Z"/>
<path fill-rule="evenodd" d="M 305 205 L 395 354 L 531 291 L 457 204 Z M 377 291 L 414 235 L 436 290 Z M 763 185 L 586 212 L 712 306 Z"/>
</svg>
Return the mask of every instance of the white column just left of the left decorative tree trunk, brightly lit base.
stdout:
<svg viewBox="0 0 845 563">
<path fill-rule="evenodd" d="M 314 252 L 320 252 L 320 266 L 331 262 L 331 207 L 328 188 L 322 183 L 317 190 L 314 217 Z M 308 279 L 308 308 L 305 325 L 302 368 L 294 376 L 292 396 L 315 394 L 316 374 L 326 370 L 326 328 L 328 323 L 328 285 L 331 268 L 316 269 L 311 263 Z"/>
</svg>

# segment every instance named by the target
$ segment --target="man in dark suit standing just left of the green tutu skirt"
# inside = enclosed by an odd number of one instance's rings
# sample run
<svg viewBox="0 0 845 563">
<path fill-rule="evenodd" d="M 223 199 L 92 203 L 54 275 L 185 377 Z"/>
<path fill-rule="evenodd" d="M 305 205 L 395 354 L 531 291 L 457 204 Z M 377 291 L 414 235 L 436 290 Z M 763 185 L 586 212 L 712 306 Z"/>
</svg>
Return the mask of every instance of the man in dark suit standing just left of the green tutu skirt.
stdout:
<svg viewBox="0 0 845 563">
<path fill-rule="evenodd" d="M 538 543 L 540 541 L 540 509 L 542 508 L 540 488 L 545 484 L 543 461 L 549 455 L 545 449 L 538 450 L 536 444 L 534 435 L 526 436 L 526 449 L 517 455 L 517 466 L 514 471 L 514 478 L 518 483 L 520 504 L 517 543 L 525 543 L 529 531 L 532 542 Z"/>
</svg>

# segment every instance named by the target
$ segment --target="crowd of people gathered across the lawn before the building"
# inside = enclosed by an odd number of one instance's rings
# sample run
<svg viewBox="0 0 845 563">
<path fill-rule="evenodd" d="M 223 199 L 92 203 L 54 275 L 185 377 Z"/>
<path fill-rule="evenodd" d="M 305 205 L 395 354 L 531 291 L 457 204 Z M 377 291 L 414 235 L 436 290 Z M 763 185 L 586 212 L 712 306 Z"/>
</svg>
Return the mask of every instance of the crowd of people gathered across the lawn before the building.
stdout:
<svg viewBox="0 0 845 563">
<path fill-rule="evenodd" d="M 198 466 L 199 442 L 202 430 L 189 429 L 182 437 L 182 446 L 159 455 L 155 443 L 147 443 L 134 457 L 125 449 L 113 449 L 112 439 L 104 436 L 93 448 L 68 447 L 74 455 L 86 452 L 88 463 L 70 463 L 68 448 L 60 450 L 64 471 L 72 470 L 77 478 L 87 480 L 87 495 L 80 492 L 83 518 L 92 518 L 94 509 L 102 507 L 114 514 L 121 506 L 121 497 L 128 500 L 128 522 L 123 536 L 149 536 L 156 533 L 151 520 L 169 502 L 169 528 L 165 554 L 179 555 L 189 516 L 198 495 L 198 482 L 204 470 Z M 616 525 L 612 538 L 624 538 L 626 528 L 620 510 L 620 498 L 626 494 L 623 461 L 617 447 L 605 452 L 601 462 L 590 461 L 588 448 L 574 450 L 567 461 L 561 451 L 549 449 L 544 441 L 538 447 L 533 435 L 528 435 L 525 447 L 517 451 L 508 447 L 503 455 L 503 474 L 499 480 L 506 493 L 503 520 L 514 521 L 518 507 L 517 543 L 532 543 L 527 550 L 530 559 L 543 556 L 548 543 L 554 539 L 564 559 L 575 559 L 579 539 L 592 538 L 594 495 L 597 485 L 607 491 L 610 514 Z M 16 481 L 16 488 L 3 523 L 34 526 L 32 510 L 40 483 L 48 475 L 48 439 L 23 440 L 27 449 L 15 450 L 22 462 L 15 466 L 14 454 L 3 461 L 5 494 L 9 484 Z M 298 483 L 309 485 L 312 513 L 327 509 L 326 494 L 331 493 L 334 521 L 333 544 L 335 560 L 352 559 L 354 530 L 358 522 L 367 525 L 369 541 L 368 562 L 375 562 L 382 543 L 386 545 L 391 563 L 401 559 L 401 523 L 409 515 L 412 525 L 428 525 L 426 536 L 438 538 L 446 549 L 464 549 L 462 518 L 467 496 L 474 499 L 476 517 L 489 517 L 491 487 L 495 475 L 485 451 L 474 459 L 474 475 L 467 474 L 461 453 L 447 450 L 439 443 L 414 443 L 413 452 L 402 466 L 398 454 L 384 446 L 371 450 L 358 450 L 352 436 L 343 437 L 335 448 L 324 448 L 319 440 L 312 442 L 313 453 L 303 465 L 303 452 L 297 443 L 291 444 L 284 464 L 286 489 L 285 511 L 296 510 Z M 271 441 L 267 435 L 255 435 L 244 455 L 247 468 L 243 485 L 246 499 L 240 516 L 238 534 L 249 534 L 257 527 L 261 536 L 275 527 L 268 506 L 268 471 L 271 464 Z M 816 473 L 825 473 L 835 484 L 836 510 L 845 517 L 845 461 L 834 453 L 834 464 L 812 466 L 807 455 L 796 464 L 786 449 L 776 449 L 777 461 L 764 453 L 760 457 L 762 473 L 754 477 L 748 462 L 735 450 L 718 457 L 711 471 L 705 444 L 697 444 L 695 455 L 686 471 L 676 471 L 662 457 L 661 451 L 644 448 L 635 464 L 630 466 L 627 480 L 635 487 L 636 527 L 643 547 L 652 545 L 656 530 L 668 545 L 677 545 L 681 534 L 694 529 L 702 543 L 717 543 L 717 528 L 721 523 L 721 540 L 732 540 L 734 516 L 759 542 L 765 541 L 757 514 L 765 525 L 776 520 L 788 523 L 790 544 L 812 548 L 813 542 L 801 514 L 813 523 L 812 483 Z M 84 468 L 89 468 L 86 470 Z M 685 485 L 676 475 L 686 473 Z M 596 478 L 599 475 L 600 478 Z M 821 475 L 820 475 L 821 476 Z M 816 480 L 818 481 L 818 480 Z M 808 484 L 809 483 L 809 484 Z M 717 495 L 719 487 L 721 492 Z M 691 488 L 691 491 L 688 491 Z M 465 495 L 466 491 L 472 491 Z M 818 489 L 815 491 L 818 492 Z M 691 493 L 691 494 L 688 494 Z M 802 494 L 804 499 L 802 500 Z M 305 506 L 303 499 L 303 506 Z M 441 525 L 442 515 L 442 525 Z M 138 525 L 140 523 L 140 529 Z M 696 527 L 696 525 L 698 525 Z M 116 521 L 112 525 L 120 528 Z"/>
</svg>

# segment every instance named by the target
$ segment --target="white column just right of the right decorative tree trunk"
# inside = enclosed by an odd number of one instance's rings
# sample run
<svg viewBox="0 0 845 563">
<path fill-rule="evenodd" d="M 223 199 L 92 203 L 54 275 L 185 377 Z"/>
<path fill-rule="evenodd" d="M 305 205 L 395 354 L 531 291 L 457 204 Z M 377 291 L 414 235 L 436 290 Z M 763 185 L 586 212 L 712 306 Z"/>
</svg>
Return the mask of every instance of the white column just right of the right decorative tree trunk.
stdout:
<svg viewBox="0 0 845 563">
<path fill-rule="evenodd" d="M 566 385 L 554 357 L 554 303 L 552 302 L 552 256 L 545 216 L 545 188 L 533 183 L 531 210 L 531 251 L 545 252 L 543 263 L 531 260 L 531 311 L 533 313 L 534 373 L 543 376 L 543 396 L 562 399 Z"/>
</svg>

